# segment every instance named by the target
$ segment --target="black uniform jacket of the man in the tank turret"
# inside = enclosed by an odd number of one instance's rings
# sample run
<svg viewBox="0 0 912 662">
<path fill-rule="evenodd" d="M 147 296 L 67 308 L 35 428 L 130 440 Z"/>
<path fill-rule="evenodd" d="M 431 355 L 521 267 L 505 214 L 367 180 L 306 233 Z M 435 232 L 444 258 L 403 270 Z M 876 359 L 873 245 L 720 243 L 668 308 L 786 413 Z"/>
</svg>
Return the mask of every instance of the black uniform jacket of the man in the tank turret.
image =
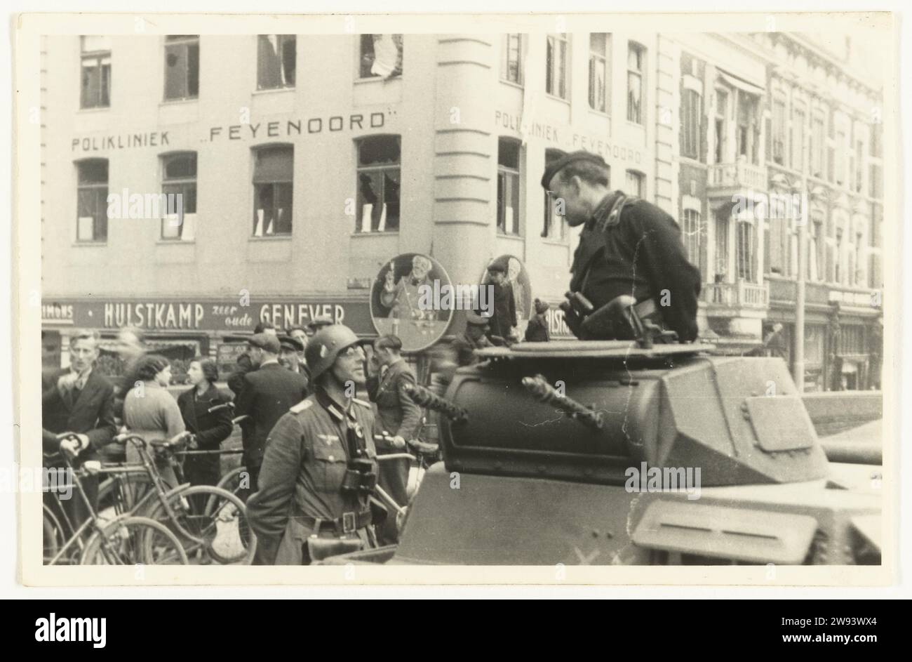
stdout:
<svg viewBox="0 0 912 662">
<path fill-rule="evenodd" d="M 609 219 L 619 195 L 620 191 L 607 194 L 586 221 L 574 254 L 570 289 L 581 292 L 596 310 L 623 294 L 637 302 L 654 299 L 680 341 L 696 339 L 700 270 L 684 252 L 678 224 L 658 206 L 638 198 L 627 199 L 617 218 Z M 668 297 L 663 298 L 662 290 L 668 290 Z"/>
</svg>

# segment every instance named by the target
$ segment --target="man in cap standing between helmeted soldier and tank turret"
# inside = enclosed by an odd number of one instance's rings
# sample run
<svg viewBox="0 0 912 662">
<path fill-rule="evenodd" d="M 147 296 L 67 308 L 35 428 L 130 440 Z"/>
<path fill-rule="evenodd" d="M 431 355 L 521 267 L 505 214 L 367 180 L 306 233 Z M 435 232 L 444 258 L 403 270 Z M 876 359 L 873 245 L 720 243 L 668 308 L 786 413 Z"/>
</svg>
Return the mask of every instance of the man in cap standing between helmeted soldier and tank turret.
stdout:
<svg viewBox="0 0 912 662">
<path fill-rule="evenodd" d="M 381 373 L 368 378 L 368 395 L 377 404 L 378 425 L 393 436 L 392 445 L 377 442 L 378 455 L 402 452 L 406 441 L 418 436 L 421 425 L 421 408 L 406 393 L 406 386 L 417 384 L 417 380 L 401 351 L 402 341 L 398 336 L 388 334 L 374 342 L 373 354 Z M 381 462 L 378 484 L 399 506 L 407 505 L 409 462 L 400 459 Z M 381 545 L 399 541 L 392 513 L 378 529 L 377 538 Z"/>
</svg>

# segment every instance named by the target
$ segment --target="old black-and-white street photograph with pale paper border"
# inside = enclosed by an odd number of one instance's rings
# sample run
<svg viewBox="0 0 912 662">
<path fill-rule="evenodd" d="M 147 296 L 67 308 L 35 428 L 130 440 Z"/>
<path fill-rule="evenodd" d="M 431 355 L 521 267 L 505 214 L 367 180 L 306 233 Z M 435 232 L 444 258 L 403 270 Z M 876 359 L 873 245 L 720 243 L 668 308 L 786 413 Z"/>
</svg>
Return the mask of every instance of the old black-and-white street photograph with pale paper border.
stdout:
<svg viewBox="0 0 912 662">
<path fill-rule="evenodd" d="M 893 18 L 719 18 L 35 16 L 28 576 L 888 580 Z"/>
</svg>

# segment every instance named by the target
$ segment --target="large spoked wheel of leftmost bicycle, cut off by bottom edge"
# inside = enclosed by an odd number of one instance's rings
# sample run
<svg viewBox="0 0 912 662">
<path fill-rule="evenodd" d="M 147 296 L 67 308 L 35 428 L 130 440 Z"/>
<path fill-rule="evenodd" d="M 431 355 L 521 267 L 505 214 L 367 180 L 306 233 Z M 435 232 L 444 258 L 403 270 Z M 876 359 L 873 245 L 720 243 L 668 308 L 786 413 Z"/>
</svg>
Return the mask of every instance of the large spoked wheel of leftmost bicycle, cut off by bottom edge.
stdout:
<svg viewBox="0 0 912 662">
<path fill-rule="evenodd" d="M 187 552 L 168 528 L 144 517 L 119 518 L 96 532 L 79 560 L 82 565 L 187 565 Z"/>
</svg>

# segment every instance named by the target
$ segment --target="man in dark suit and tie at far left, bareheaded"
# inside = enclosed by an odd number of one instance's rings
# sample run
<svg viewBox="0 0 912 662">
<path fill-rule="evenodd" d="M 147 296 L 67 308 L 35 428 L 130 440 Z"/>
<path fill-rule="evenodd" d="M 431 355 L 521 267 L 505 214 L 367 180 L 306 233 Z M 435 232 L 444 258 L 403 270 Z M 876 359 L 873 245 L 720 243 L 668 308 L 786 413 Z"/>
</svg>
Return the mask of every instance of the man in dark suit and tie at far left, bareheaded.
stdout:
<svg viewBox="0 0 912 662">
<path fill-rule="evenodd" d="M 98 359 L 98 331 L 76 331 L 69 340 L 69 367 L 52 373 L 41 398 L 42 449 L 63 453 L 75 468 L 98 459 L 98 450 L 117 434 L 114 421 L 114 390 L 109 380 L 93 370 Z M 67 433 L 76 439 L 63 438 Z M 60 460 L 51 461 L 60 466 Z M 80 478 L 88 501 L 95 508 L 98 478 Z M 88 519 L 83 499 L 74 492 L 61 500 L 74 527 Z"/>
</svg>

